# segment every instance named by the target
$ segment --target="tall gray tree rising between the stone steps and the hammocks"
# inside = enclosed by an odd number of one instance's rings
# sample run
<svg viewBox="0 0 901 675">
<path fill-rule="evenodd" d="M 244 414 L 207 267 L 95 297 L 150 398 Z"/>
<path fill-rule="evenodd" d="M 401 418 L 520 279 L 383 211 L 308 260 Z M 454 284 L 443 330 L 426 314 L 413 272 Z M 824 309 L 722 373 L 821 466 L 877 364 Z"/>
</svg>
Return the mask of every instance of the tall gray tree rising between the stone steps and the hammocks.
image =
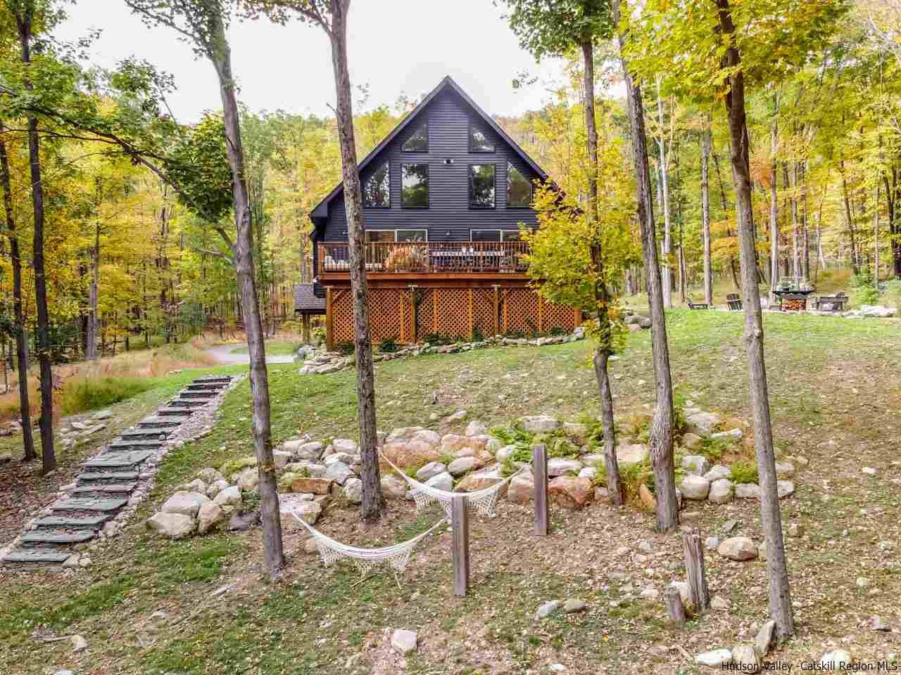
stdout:
<svg viewBox="0 0 901 675">
<path fill-rule="evenodd" d="M 269 383 L 266 347 L 260 319 L 253 261 L 253 223 L 241 146 L 241 121 L 232 73 L 232 52 L 225 24 L 234 9 L 231 0 L 125 0 L 151 24 L 174 29 L 189 42 L 198 56 L 208 58 L 219 81 L 223 104 L 223 130 L 228 166 L 232 175 L 232 211 L 235 238 L 217 231 L 232 251 L 241 301 L 241 316 L 250 354 L 250 395 L 253 403 L 251 427 L 259 470 L 259 510 L 263 524 L 263 565 L 270 577 L 278 577 L 284 566 L 281 518 L 278 509 L 276 466 L 272 455 Z"/>
</svg>

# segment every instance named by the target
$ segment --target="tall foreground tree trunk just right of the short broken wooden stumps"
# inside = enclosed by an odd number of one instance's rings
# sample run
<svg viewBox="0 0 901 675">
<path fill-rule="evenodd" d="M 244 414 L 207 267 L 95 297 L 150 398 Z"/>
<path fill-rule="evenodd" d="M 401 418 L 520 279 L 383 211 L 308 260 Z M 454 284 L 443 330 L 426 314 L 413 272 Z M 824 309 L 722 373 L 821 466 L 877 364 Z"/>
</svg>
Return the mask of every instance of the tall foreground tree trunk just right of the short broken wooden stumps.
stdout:
<svg viewBox="0 0 901 675">
<path fill-rule="evenodd" d="M 731 40 L 735 27 L 729 0 L 716 0 L 720 27 Z M 729 42 L 733 45 L 733 42 Z M 776 621 L 780 640 L 793 635 L 795 623 L 788 589 L 788 568 L 785 543 L 782 538 L 782 515 L 776 481 L 776 458 L 773 454 L 773 433 L 769 419 L 767 370 L 763 355 L 763 315 L 757 270 L 754 265 L 754 221 L 751 205 L 751 167 L 747 145 L 748 130 L 745 117 L 744 78 L 738 49 L 726 49 L 724 66 L 732 73 L 728 78 L 729 91 L 724 103 L 729 119 L 729 139 L 732 148 L 733 180 L 735 183 L 735 211 L 738 220 L 742 265 L 742 293 L 744 295 L 744 342 L 748 353 L 751 380 L 751 407 L 754 412 L 754 447 L 760 474 L 760 521 L 767 544 L 767 576 L 769 577 L 769 613 Z"/>
</svg>

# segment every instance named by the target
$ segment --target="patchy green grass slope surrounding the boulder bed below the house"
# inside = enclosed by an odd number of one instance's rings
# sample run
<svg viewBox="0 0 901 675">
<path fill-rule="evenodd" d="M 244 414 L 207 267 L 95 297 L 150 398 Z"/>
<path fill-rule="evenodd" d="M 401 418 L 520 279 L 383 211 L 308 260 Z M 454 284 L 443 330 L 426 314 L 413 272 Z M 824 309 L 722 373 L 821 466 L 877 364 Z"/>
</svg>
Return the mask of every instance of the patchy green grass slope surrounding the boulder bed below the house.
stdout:
<svg viewBox="0 0 901 675">
<path fill-rule="evenodd" d="M 876 614 L 901 627 L 901 322 L 774 314 L 766 322 L 778 451 L 810 462 L 796 476 L 796 495 L 782 502 L 786 527 L 801 530 L 786 540 L 798 635 L 770 660 L 797 664 L 838 645 L 861 661 L 888 658 L 898 651 L 897 634 L 869 631 L 865 622 Z M 742 316 L 673 311 L 668 332 L 675 385 L 706 409 L 750 420 Z M 523 414 L 576 419 L 596 412 L 589 357 L 590 346 L 578 342 L 381 363 L 378 425 L 439 428 L 431 416 L 461 408 L 489 426 Z M 630 335 L 612 371 L 617 410 L 651 410 L 649 331 Z M 275 365 L 269 374 L 274 442 L 302 433 L 356 437 L 352 371 L 301 376 L 295 366 Z M 171 391 L 177 378 L 192 376 L 173 376 Z M 708 552 L 711 591 L 730 609 L 682 631 L 665 626 L 660 600 L 639 599 L 638 591 L 648 583 L 662 591 L 680 578 L 669 568 L 681 559 L 681 544 L 678 536 L 655 534 L 651 515 L 634 507 L 554 508 L 551 536 L 538 538 L 532 509 L 503 502 L 496 518 L 470 523 L 473 583 L 464 599 L 451 594 L 446 533 L 423 541 L 400 586 L 390 573 L 360 581 L 343 565 L 323 569 L 304 553 L 298 532 L 285 535 L 287 573 L 276 584 L 259 575 L 259 529 L 178 542 L 151 537 L 142 521 L 176 484 L 252 454 L 249 399 L 245 381 L 210 436 L 168 455 L 150 499 L 123 536 L 92 554 L 86 571 L 0 576 L 0 672 L 474 675 L 544 673 L 563 663 L 569 672 L 694 673 L 680 649 L 693 657 L 733 647 L 751 640 L 751 625 L 766 618 L 765 564 Z M 878 473 L 864 474 L 861 465 Z M 761 540 L 756 503 L 687 510 L 696 511 L 691 522 L 702 536 L 721 534 L 733 518 L 733 534 Z M 335 504 L 320 526 L 341 541 L 377 546 L 414 536 L 437 518 L 393 503 L 382 523 L 364 528 L 355 509 Z M 651 543 L 647 560 L 634 557 L 641 540 Z M 881 550 L 882 541 L 892 547 Z M 623 545 L 630 554 L 616 553 Z M 860 587 L 858 577 L 869 585 Z M 586 600 L 587 611 L 532 620 L 543 601 L 570 597 Z M 419 649 L 403 669 L 387 642 L 395 628 L 420 631 Z M 40 641 L 75 633 L 89 642 L 83 653 L 71 653 L 65 641 Z"/>
</svg>

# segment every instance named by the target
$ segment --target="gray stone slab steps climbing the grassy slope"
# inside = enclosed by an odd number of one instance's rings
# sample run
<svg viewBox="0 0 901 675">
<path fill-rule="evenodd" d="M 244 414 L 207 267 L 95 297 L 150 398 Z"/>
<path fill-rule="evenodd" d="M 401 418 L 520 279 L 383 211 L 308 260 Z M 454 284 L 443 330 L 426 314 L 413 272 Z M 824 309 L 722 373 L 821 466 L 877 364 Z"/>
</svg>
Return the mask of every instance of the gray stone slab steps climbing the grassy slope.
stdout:
<svg viewBox="0 0 901 675">
<path fill-rule="evenodd" d="M 0 562 L 14 569 L 65 563 L 73 554 L 72 547 L 94 539 L 129 503 L 142 477 L 149 477 L 142 472 L 165 446 L 169 434 L 198 408 L 214 401 L 230 383 L 230 375 L 197 378 L 156 414 L 124 430 L 82 464 L 68 496 L 50 506 L 50 515 L 35 520 L 20 538 L 19 547 Z"/>
</svg>

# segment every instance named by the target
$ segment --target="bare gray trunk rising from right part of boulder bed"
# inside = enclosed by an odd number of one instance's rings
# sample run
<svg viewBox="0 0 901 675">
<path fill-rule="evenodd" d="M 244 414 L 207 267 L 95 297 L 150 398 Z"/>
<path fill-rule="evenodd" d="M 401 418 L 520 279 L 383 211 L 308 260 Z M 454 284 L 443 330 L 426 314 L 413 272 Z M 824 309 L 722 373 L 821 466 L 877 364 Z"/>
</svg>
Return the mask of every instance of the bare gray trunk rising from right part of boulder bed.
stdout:
<svg viewBox="0 0 901 675">
<path fill-rule="evenodd" d="M 614 24 L 619 24 L 621 0 L 613 0 Z M 669 346 L 667 344 L 666 316 L 660 288 L 660 265 L 657 260 L 657 238 L 654 227 L 654 204 L 651 200 L 651 172 L 648 169 L 647 138 L 644 132 L 642 89 L 635 84 L 629 72 L 629 61 L 624 56 L 628 36 L 617 34 L 620 60 L 623 64 L 623 80 L 626 85 L 629 125 L 633 139 L 633 166 L 637 185 L 638 219 L 642 225 L 642 255 L 648 275 L 648 304 L 651 308 L 651 348 L 654 357 L 654 379 L 657 388 L 657 405 L 651 422 L 651 466 L 654 471 L 655 501 L 657 502 L 657 527 L 661 532 L 671 532 L 678 527 L 676 479 L 673 473 L 673 392 L 669 371 Z"/>
</svg>

